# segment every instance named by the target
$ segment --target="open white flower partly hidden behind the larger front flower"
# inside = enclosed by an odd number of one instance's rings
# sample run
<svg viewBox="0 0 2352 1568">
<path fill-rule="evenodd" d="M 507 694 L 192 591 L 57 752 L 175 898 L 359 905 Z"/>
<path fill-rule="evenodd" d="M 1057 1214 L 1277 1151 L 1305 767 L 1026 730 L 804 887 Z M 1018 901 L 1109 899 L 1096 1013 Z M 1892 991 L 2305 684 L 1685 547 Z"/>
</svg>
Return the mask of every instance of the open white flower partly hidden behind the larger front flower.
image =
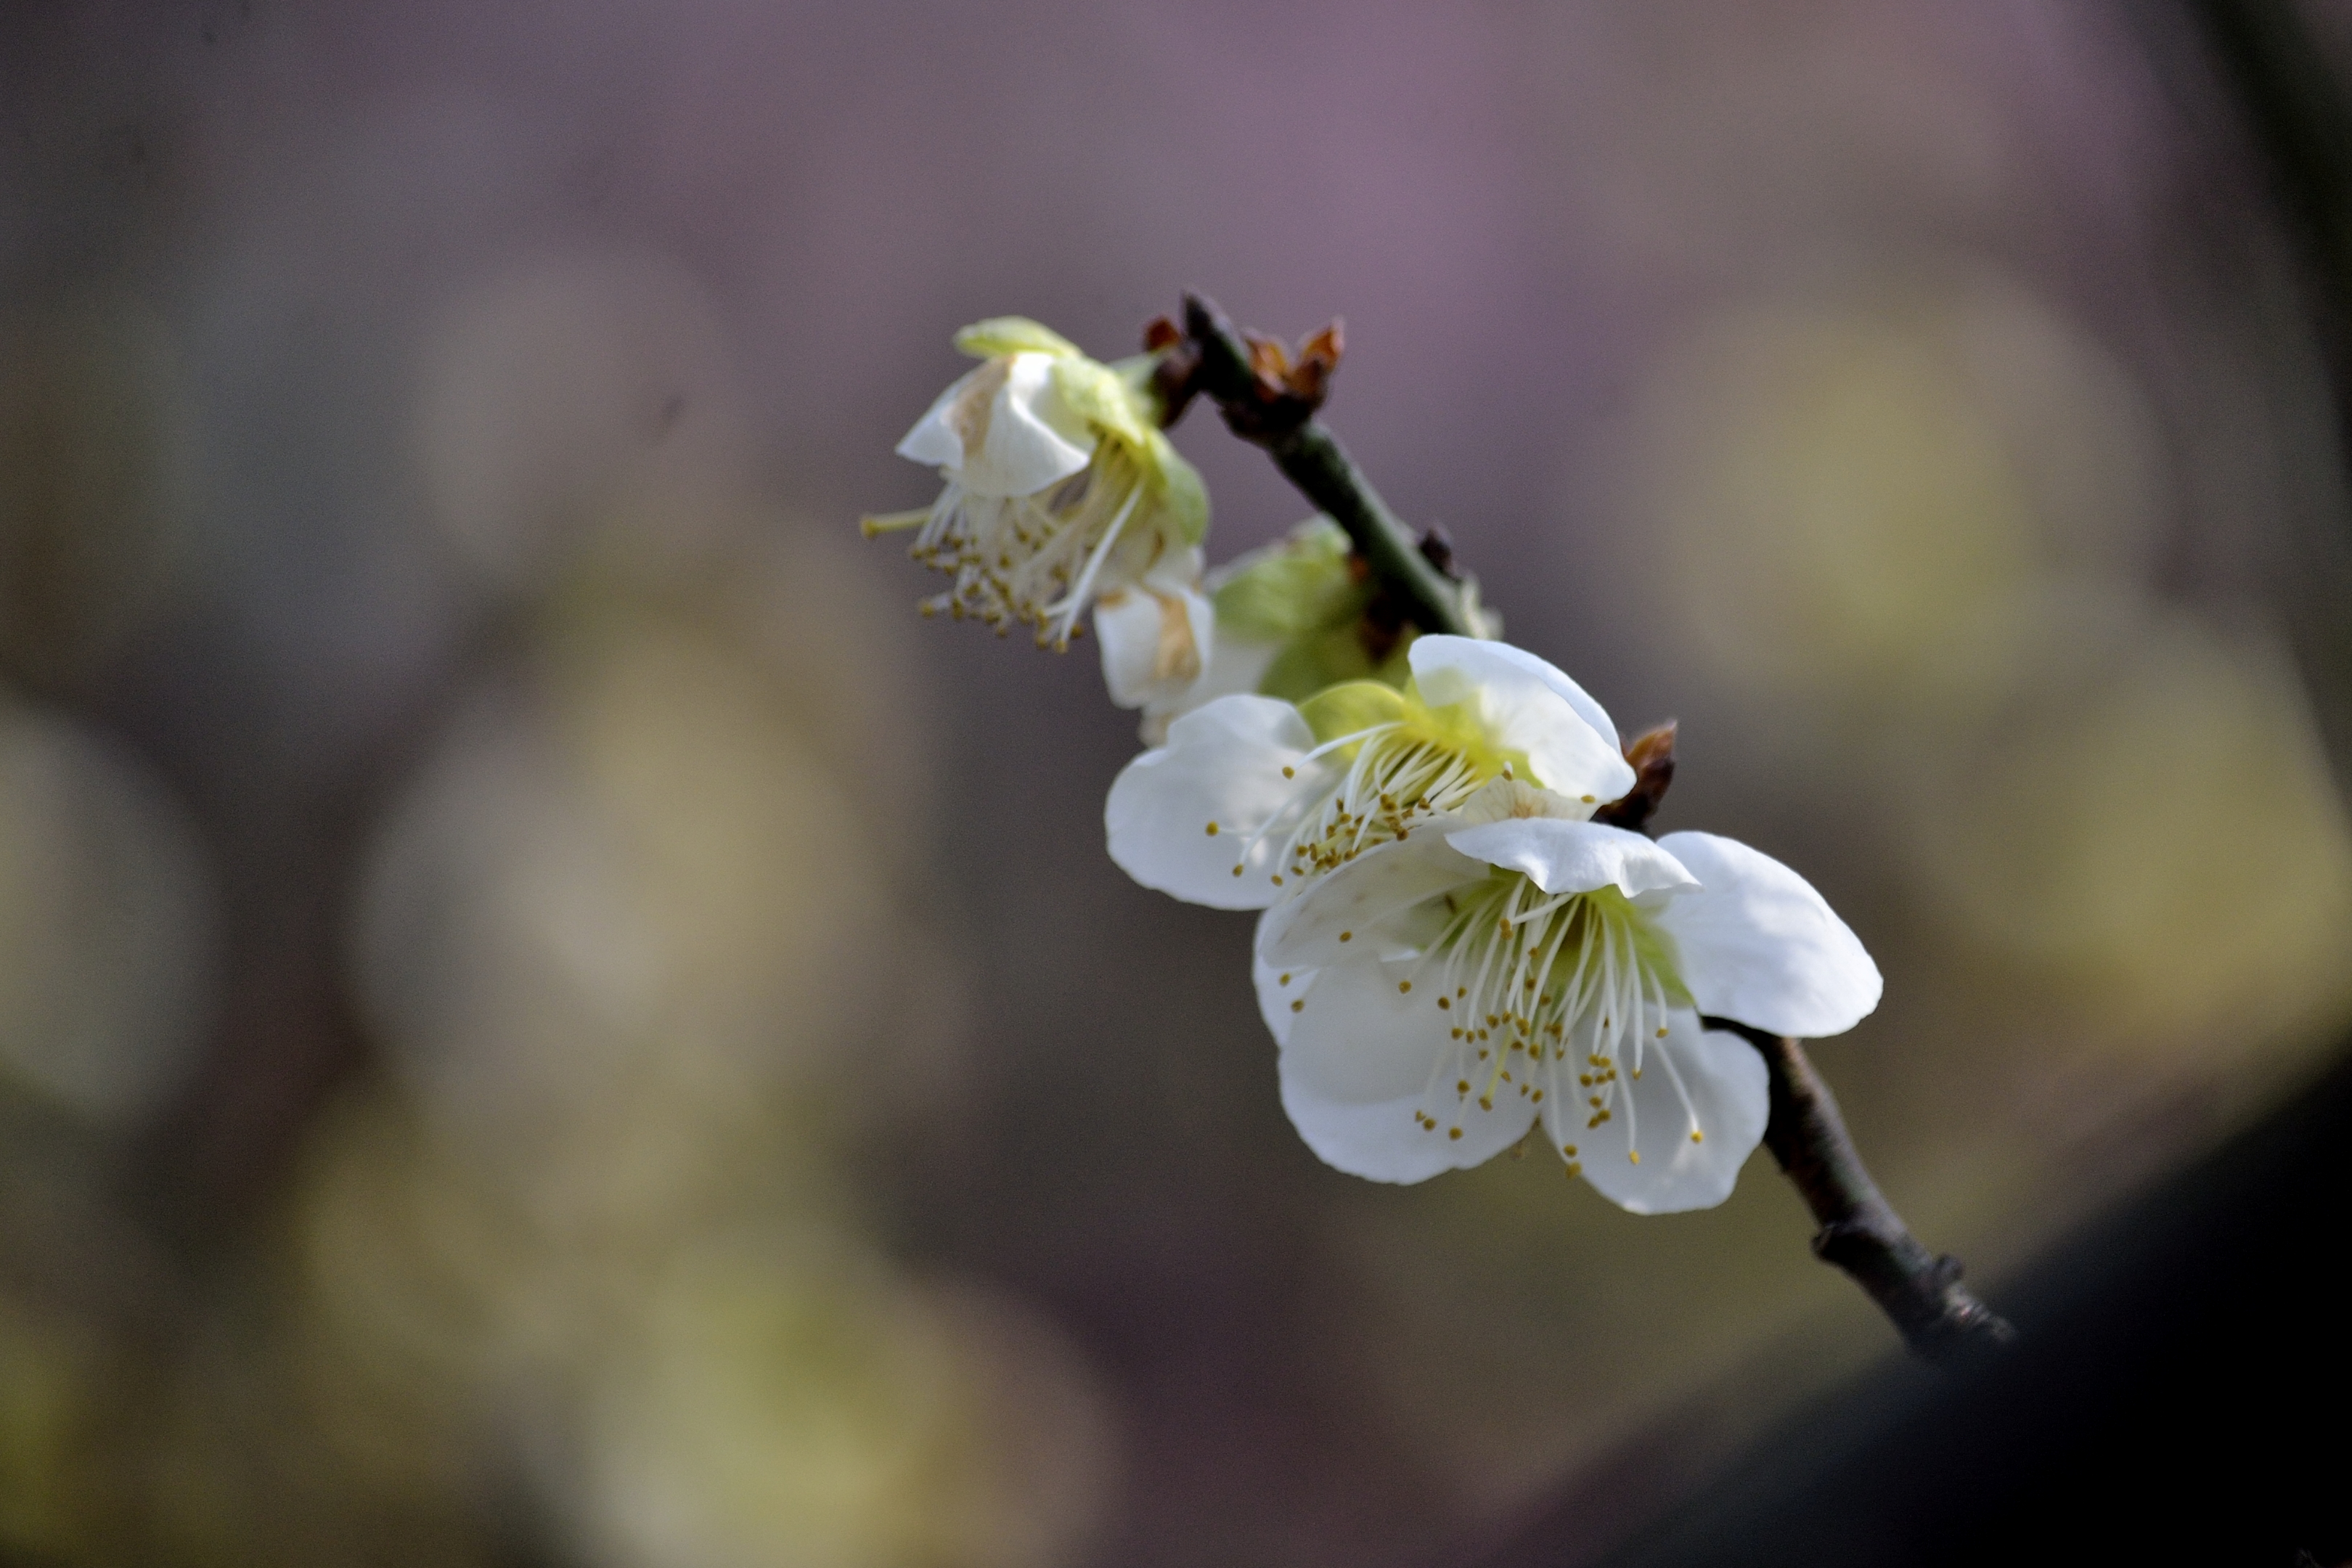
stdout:
<svg viewBox="0 0 2352 1568">
<path fill-rule="evenodd" d="M 1110 785 L 1110 858 L 1148 889 L 1261 910 L 1461 806 L 1496 778 L 1592 811 L 1632 788 L 1616 726 L 1534 654 L 1414 642 L 1402 691 L 1348 682 L 1301 705 L 1221 696 Z"/>
</svg>

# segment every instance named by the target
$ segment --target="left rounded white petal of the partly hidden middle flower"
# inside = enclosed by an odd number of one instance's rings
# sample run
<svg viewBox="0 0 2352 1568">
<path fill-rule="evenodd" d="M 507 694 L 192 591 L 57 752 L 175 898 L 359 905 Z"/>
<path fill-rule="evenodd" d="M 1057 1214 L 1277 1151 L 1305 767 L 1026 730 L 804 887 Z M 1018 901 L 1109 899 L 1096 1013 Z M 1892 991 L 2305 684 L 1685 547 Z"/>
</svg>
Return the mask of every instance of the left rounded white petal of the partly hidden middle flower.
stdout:
<svg viewBox="0 0 2352 1568">
<path fill-rule="evenodd" d="M 1183 715 L 1169 724 L 1167 745 L 1112 780 L 1103 804 L 1110 858 L 1185 903 L 1263 910 L 1279 891 L 1272 872 L 1282 832 L 1258 830 L 1291 802 L 1331 788 L 1324 766 L 1308 762 L 1310 750 L 1305 719 L 1270 696 L 1223 696 Z"/>
</svg>

